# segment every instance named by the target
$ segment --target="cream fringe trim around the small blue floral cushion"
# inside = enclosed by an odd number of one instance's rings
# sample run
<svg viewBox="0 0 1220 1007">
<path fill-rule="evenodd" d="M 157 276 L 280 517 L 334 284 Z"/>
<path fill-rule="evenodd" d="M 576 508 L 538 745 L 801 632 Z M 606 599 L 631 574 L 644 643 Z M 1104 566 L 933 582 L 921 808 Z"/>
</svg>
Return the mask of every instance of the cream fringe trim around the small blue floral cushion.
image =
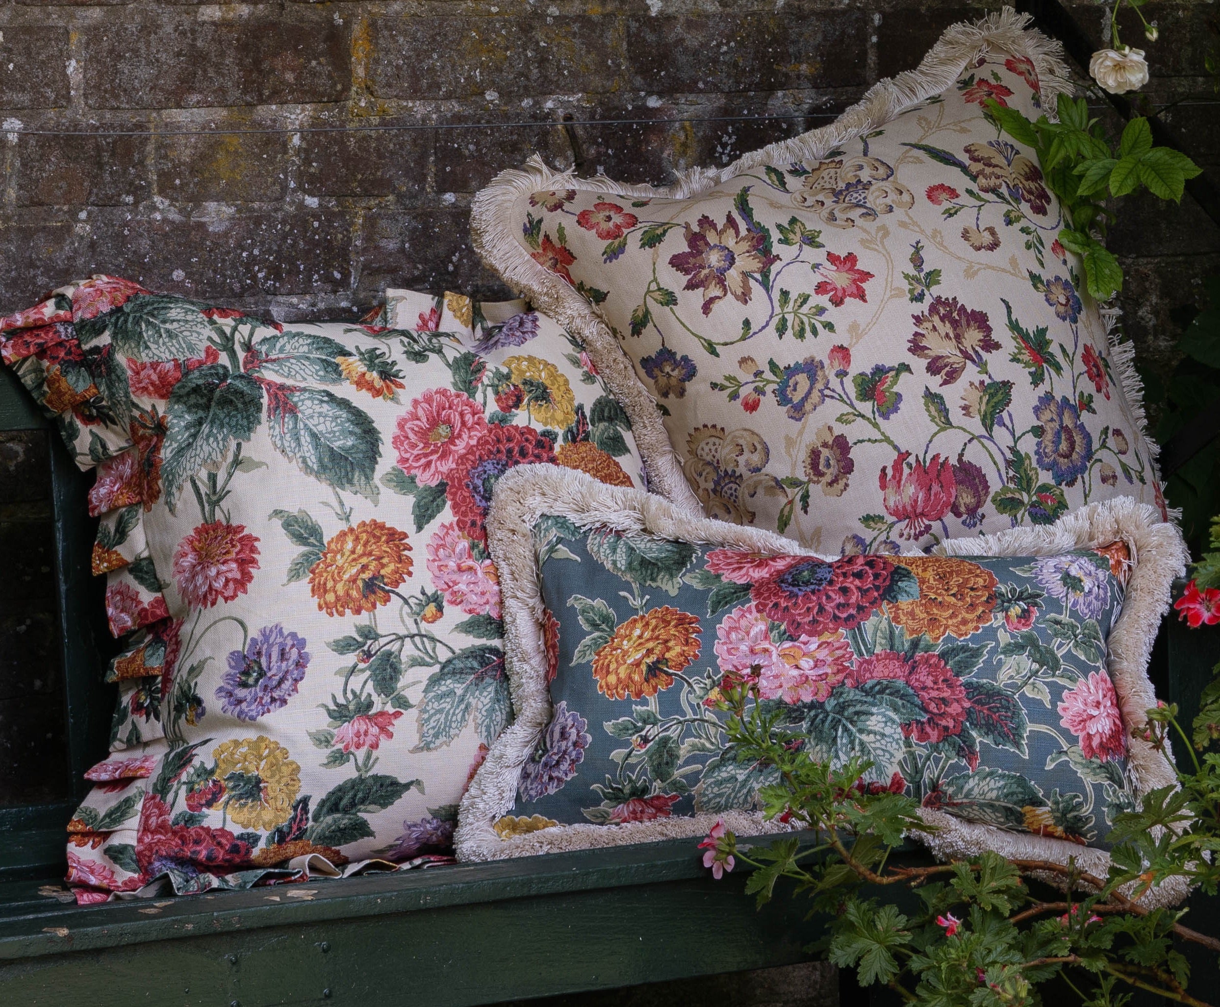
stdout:
<svg viewBox="0 0 1220 1007">
<path fill-rule="evenodd" d="M 461 802 L 455 835 L 458 858 L 488 861 L 590 846 L 614 846 L 699 835 L 723 817 L 736 831 L 758 835 L 783 830 L 761 814 L 733 812 L 702 814 L 625 825 L 556 825 L 501 840 L 493 824 L 508 814 L 516 799 L 521 767 L 551 716 L 542 619 L 545 606 L 533 527 L 543 514 L 569 518 L 578 528 L 612 528 L 627 534 L 658 535 L 699 545 L 736 546 L 762 553 L 816 555 L 772 532 L 693 517 L 636 489 L 608 486 L 581 472 L 550 464 L 522 466 L 505 473 L 495 486 L 487 517 L 488 544 L 500 577 L 505 624 L 505 662 L 516 721 L 492 746 Z M 1168 611 L 1170 585 L 1185 568 L 1187 553 L 1177 528 L 1130 497 L 1089 504 L 1053 525 L 1014 528 L 977 539 L 954 539 L 942 547 L 956 556 L 1031 556 L 1099 546 L 1118 539 L 1131 550 L 1132 572 L 1122 611 L 1109 636 L 1109 667 L 1126 723 L 1144 724 L 1144 710 L 1155 705 L 1146 669 L 1160 619 Z M 922 555 L 922 553 L 910 553 Z M 1132 781 L 1138 795 L 1175 783 L 1174 768 L 1148 742 L 1131 739 Z M 1109 853 L 1050 836 L 1025 835 L 991 825 L 961 822 L 931 810 L 921 812 L 935 833 L 917 833 L 942 858 L 970 857 L 994 850 L 1009 858 L 1075 861 L 1104 877 Z M 1148 892 L 1148 906 L 1172 905 L 1187 894 L 1185 884 Z"/>
</svg>

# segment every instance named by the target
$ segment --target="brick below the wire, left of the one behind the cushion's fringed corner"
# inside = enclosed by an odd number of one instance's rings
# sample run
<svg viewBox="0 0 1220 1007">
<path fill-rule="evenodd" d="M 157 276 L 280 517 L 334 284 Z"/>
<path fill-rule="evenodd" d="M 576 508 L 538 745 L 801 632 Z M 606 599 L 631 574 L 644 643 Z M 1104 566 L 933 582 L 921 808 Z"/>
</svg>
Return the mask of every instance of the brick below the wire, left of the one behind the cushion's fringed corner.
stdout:
<svg viewBox="0 0 1220 1007">
<path fill-rule="evenodd" d="M 318 196 L 416 195 L 427 188 L 428 129 L 305 133 L 301 189 Z"/>
</svg>

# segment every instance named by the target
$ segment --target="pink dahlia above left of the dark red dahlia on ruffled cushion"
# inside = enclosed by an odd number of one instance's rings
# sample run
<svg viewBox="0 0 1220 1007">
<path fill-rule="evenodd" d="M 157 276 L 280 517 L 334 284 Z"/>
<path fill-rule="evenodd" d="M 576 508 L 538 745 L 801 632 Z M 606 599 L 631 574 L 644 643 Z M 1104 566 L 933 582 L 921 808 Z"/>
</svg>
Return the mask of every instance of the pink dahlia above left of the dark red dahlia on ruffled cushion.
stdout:
<svg viewBox="0 0 1220 1007">
<path fill-rule="evenodd" d="M 487 419 L 473 399 L 448 388 L 429 388 L 399 417 L 393 438 L 399 468 L 434 486 L 464 463 L 462 456 L 484 433 Z"/>
</svg>

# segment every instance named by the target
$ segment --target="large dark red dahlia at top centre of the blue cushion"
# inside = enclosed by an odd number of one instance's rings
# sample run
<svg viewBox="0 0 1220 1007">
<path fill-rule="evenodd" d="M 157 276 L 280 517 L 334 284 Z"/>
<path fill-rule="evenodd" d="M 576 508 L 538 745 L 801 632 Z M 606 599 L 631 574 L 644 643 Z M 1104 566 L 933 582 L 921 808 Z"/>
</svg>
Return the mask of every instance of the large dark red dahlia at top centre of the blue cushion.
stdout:
<svg viewBox="0 0 1220 1007">
<path fill-rule="evenodd" d="M 884 600 L 893 563 L 883 556 L 844 556 L 827 563 L 789 556 L 788 566 L 750 586 L 759 612 L 793 636 L 854 629 Z"/>
</svg>

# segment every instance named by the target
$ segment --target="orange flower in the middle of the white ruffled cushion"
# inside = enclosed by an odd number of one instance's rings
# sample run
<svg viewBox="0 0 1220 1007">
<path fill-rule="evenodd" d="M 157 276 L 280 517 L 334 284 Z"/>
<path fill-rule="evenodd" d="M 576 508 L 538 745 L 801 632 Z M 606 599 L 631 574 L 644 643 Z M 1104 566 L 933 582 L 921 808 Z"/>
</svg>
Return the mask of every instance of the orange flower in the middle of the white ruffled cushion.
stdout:
<svg viewBox="0 0 1220 1007">
<path fill-rule="evenodd" d="M 310 594 L 328 616 L 357 616 L 389 601 L 389 590 L 411 575 L 406 532 L 361 521 L 326 544 L 309 572 Z"/>
</svg>

